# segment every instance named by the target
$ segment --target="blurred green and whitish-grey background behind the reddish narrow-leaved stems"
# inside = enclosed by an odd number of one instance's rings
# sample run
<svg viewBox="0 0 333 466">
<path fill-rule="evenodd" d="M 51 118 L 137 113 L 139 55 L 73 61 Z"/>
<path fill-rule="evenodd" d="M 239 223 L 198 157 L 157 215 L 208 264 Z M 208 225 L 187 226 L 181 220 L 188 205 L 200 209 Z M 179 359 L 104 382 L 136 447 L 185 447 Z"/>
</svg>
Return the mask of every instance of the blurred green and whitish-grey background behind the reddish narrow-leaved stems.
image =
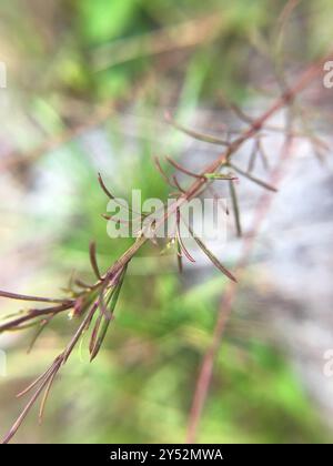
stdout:
<svg viewBox="0 0 333 466">
<path fill-rule="evenodd" d="M 105 270 L 131 240 L 107 235 L 97 173 L 118 196 L 140 189 L 143 199 L 167 199 L 170 188 L 153 155 L 170 154 L 194 171 L 221 148 L 178 132 L 164 112 L 201 132 L 236 133 L 244 122 L 225 102 L 261 114 L 279 95 L 283 70 L 293 82 L 327 53 L 332 23 L 330 0 L 1 2 L 0 288 L 57 296 L 73 271 L 91 280 L 91 239 Z M 330 144 L 333 91 L 319 80 L 304 100 L 303 133 Z M 272 124 L 283 128 L 284 118 L 280 112 Z M 279 131 L 265 135 L 269 166 L 260 160 L 255 166 L 262 178 L 276 168 L 282 140 Z M 333 178 L 330 151 L 323 158 L 316 149 L 296 139 L 281 168 L 280 191 L 216 358 L 199 442 L 332 440 L 333 378 L 323 367 L 333 348 Z M 251 143 L 242 148 L 240 164 L 246 166 L 251 151 Z M 223 188 L 221 194 L 229 196 Z M 240 182 L 245 235 L 255 227 L 261 196 L 259 186 Z M 242 241 L 231 221 L 226 244 L 211 246 L 233 270 Z M 53 387 L 43 425 L 33 411 L 14 442 L 184 440 L 228 286 L 193 254 L 196 264 L 179 276 L 173 256 L 161 257 L 153 245 L 141 252 L 99 357 L 88 362 L 83 341 Z M 0 301 L 3 315 L 20 308 Z M 14 395 L 51 363 L 75 325 L 59 316 L 29 355 L 33 332 L 1 335 L 1 435 L 22 407 Z"/>
</svg>

